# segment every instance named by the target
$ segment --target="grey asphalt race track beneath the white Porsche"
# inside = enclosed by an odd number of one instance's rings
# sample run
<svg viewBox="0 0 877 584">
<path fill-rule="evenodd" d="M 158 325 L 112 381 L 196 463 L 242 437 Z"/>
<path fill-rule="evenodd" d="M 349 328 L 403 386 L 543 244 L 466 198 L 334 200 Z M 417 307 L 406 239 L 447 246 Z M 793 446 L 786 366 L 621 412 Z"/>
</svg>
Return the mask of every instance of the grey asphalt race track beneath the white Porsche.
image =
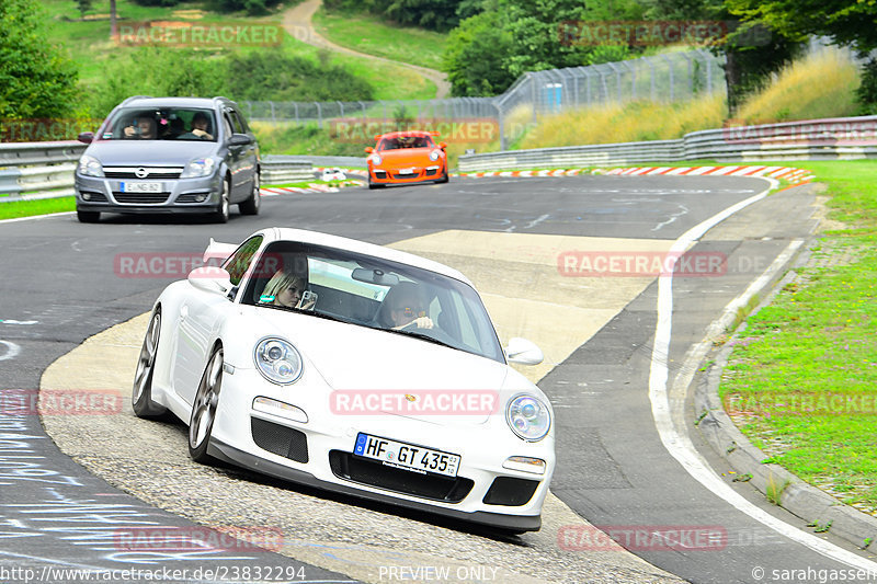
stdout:
<svg viewBox="0 0 877 584">
<path fill-rule="evenodd" d="M 227 225 L 118 215 L 83 225 L 70 214 L 0 224 L 0 582 L 71 581 L 55 572 L 61 569 L 158 570 L 153 582 L 411 582 L 430 579 L 418 568 L 451 565 L 451 582 L 571 583 L 672 582 L 671 574 L 691 582 L 824 582 L 820 570 L 877 570 L 830 535 L 800 536 L 807 522 L 732 482 L 698 438 L 690 397 L 679 392 L 688 352 L 707 327 L 813 228 L 809 187 L 705 224 L 767 187 L 762 179 L 726 176 L 452 180 L 264 197 L 260 216 L 232 213 Z M 394 244 L 458 267 L 483 293 L 503 341 L 523 332 L 543 346 L 547 363 L 529 373 L 542 378 L 555 408 L 558 470 L 557 500 L 546 506 L 542 531 L 497 536 L 238 469 L 194 466 L 181 424 L 143 422 L 124 410 L 100 421 L 46 420 L 71 459 L 33 411 L 9 406 L 10 397 L 14 403 L 35 397 L 41 382 L 88 390 L 105 373 L 130 378 L 134 364 L 125 355 L 138 340 L 126 334 L 143 319 L 125 325 L 130 329 L 114 327 L 147 311 L 186 270 L 126 273 L 121 257 L 200 256 L 209 237 L 238 242 L 274 225 Z M 664 253 L 698 226 L 704 233 L 695 233 L 690 253 L 706 263 L 688 264 L 672 288 L 670 278 L 578 273 L 585 257 Z M 720 270 L 709 263 L 715 257 L 722 259 Z M 99 365 L 58 362 L 43 379 L 53 363 L 107 329 Z M 118 388 L 126 400 L 127 383 Z M 711 465 L 718 479 L 698 461 Z M 574 537 L 590 533 L 582 519 L 616 533 L 663 528 L 693 539 L 672 549 L 628 541 L 651 568 Z M 132 549 L 125 540 L 130 530 L 195 528 L 193 520 L 274 526 L 288 545 L 168 551 Z M 715 534 L 720 545 L 710 539 Z"/>
</svg>

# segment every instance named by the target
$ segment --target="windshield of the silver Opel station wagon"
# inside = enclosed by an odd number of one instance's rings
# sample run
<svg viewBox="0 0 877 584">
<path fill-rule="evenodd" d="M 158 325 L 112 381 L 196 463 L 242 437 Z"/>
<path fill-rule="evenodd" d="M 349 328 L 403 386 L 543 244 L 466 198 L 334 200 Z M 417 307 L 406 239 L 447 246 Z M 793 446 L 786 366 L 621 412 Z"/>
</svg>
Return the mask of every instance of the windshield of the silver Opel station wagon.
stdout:
<svg viewBox="0 0 877 584">
<path fill-rule="evenodd" d="M 194 107 L 122 107 L 99 140 L 216 141 L 212 110 Z"/>
</svg>

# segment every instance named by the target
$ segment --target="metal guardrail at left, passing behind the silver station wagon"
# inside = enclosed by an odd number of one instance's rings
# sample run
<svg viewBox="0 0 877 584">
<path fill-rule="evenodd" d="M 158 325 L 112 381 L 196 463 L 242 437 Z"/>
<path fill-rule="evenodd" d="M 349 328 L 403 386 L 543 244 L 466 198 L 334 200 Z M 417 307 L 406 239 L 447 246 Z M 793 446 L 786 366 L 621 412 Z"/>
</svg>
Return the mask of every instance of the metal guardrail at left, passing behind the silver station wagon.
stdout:
<svg viewBox="0 0 877 584">
<path fill-rule="evenodd" d="M 73 172 L 86 150 L 81 142 L 0 144 L 0 203 L 71 196 Z M 262 157 L 262 183 L 314 179 L 314 167 L 301 157 Z"/>
</svg>

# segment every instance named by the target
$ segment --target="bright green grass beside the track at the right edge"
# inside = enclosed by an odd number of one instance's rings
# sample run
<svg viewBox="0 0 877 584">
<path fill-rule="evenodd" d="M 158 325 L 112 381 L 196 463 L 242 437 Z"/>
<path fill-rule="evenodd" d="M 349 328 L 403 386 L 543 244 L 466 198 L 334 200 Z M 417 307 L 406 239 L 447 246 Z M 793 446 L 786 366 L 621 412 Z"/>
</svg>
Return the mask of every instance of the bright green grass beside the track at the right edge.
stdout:
<svg viewBox="0 0 877 584">
<path fill-rule="evenodd" d="M 741 430 L 771 460 L 877 511 L 877 161 L 795 162 L 828 185 L 815 267 L 748 319 L 719 393 L 744 400 Z M 829 264 L 843 255 L 845 262 Z"/>
</svg>

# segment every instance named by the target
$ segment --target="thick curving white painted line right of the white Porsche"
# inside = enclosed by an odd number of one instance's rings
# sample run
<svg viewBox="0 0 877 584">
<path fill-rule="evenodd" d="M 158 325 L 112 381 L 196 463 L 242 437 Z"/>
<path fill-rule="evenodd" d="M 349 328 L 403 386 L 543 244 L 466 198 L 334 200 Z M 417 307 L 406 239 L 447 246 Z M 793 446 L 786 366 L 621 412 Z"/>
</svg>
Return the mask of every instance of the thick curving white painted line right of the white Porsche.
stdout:
<svg viewBox="0 0 877 584">
<path fill-rule="evenodd" d="M 776 181 L 771 181 L 771 187 L 758 195 L 741 201 L 691 228 L 673 242 L 673 245 L 668 252 L 668 256 L 674 253 L 681 254 L 710 228 L 740 209 L 767 196 L 767 193 L 776 187 Z M 768 276 L 762 275 L 762 277 Z M 691 438 L 684 432 L 684 428 L 677 428 L 675 426 L 673 416 L 671 415 L 667 389 L 670 337 L 673 329 L 672 314 L 673 275 L 671 273 L 658 278 L 658 323 L 654 328 L 654 346 L 652 348 L 651 368 L 649 371 L 649 400 L 651 401 L 652 417 L 654 419 L 654 426 L 658 430 L 658 434 L 661 437 L 661 443 L 663 443 L 668 453 L 670 453 L 670 455 L 682 465 L 682 468 L 697 482 L 756 522 L 827 558 L 856 569 L 877 570 L 877 563 L 819 539 L 811 534 L 801 531 L 747 501 L 716 474 L 706 460 L 697 453 Z"/>
</svg>

